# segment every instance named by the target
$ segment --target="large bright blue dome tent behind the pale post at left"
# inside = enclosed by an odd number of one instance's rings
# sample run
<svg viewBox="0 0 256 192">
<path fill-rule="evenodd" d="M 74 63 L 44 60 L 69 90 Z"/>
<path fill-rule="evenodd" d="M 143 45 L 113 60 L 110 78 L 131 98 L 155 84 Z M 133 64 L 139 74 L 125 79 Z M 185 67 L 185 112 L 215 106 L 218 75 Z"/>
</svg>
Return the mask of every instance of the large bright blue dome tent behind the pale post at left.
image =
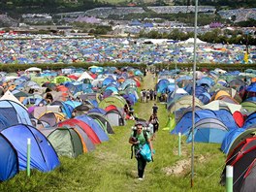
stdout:
<svg viewBox="0 0 256 192">
<path fill-rule="evenodd" d="M 28 138 L 31 139 L 31 169 L 49 172 L 60 164 L 54 148 L 48 142 L 48 139 L 36 128 L 17 124 L 2 130 L 1 134 L 16 148 L 19 170 L 26 170 Z"/>
</svg>

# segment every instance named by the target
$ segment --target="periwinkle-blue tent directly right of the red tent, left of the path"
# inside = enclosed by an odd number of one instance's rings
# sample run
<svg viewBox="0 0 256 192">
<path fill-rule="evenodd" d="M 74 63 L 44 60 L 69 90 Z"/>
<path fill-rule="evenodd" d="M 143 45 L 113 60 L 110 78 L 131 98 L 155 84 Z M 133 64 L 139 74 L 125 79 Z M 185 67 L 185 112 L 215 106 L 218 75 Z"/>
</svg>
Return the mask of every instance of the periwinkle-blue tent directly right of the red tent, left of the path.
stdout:
<svg viewBox="0 0 256 192">
<path fill-rule="evenodd" d="M 76 118 L 82 120 L 87 125 L 89 125 L 93 129 L 93 131 L 96 133 L 96 135 L 98 136 L 101 142 L 109 141 L 108 135 L 93 118 L 87 115 L 80 115 L 80 116 L 77 116 Z"/>
</svg>

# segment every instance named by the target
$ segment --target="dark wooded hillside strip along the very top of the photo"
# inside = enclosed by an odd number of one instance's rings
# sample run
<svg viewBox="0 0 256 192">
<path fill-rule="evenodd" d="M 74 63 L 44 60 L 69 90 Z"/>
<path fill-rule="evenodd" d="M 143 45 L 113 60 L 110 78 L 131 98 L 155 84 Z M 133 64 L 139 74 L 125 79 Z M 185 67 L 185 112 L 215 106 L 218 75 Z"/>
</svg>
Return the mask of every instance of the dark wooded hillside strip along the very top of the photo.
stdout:
<svg viewBox="0 0 256 192">
<path fill-rule="evenodd" d="M 23 13 L 60 13 L 60 12 L 84 12 L 97 7 L 110 6 L 165 6 L 193 5 L 191 0 L 2 0 L 0 1 L 0 14 L 8 13 L 17 16 Z M 211 5 L 220 9 L 226 8 L 252 8 L 255 0 L 199 0 L 199 5 Z"/>
</svg>

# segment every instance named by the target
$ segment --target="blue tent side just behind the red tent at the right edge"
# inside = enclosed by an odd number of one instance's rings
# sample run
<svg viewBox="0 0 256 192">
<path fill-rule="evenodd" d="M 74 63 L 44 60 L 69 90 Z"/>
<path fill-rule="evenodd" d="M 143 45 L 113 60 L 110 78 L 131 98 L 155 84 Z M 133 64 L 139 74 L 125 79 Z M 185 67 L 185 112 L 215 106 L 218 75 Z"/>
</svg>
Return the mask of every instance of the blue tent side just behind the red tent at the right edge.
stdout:
<svg viewBox="0 0 256 192">
<path fill-rule="evenodd" d="M 224 138 L 222 144 L 221 144 L 221 150 L 224 153 L 228 153 L 231 144 L 233 143 L 233 141 L 236 140 L 236 138 L 242 133 L 244 132 L 245 129 L 239 128 L 239 129 L 233 129 L 231 131 L 229 131 L 226 135 L 226 137 Z"/>
</svg>

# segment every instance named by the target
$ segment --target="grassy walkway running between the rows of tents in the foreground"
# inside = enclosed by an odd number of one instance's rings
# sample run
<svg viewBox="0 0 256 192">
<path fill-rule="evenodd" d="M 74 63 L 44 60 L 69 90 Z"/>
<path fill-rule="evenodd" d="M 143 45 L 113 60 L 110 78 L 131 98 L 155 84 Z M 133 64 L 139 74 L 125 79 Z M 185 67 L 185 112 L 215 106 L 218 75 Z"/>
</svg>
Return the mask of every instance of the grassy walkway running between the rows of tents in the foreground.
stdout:
<svg viewBox="0 0 256 192">
<path fill-rule="evenodd" d="M 144 78 L 141 88 L 152 88 L 152 75 Z M 153 101 L 138 102 L 135 112 L 147 119 Z M 14 178 L 0 183 L 0 191 L 225 191 L 219 184 L 225 165 L 225 155 L 220 144 L 195 144 L 194 186 L 191 188 L 191 144 L 182 138 L 181 156 L 177 155 L 177 136 L 162 130 L 168 120 L 164 104 L 157 103 L 160 129 L 153 146 L 154 161 L 147 164 L 144 180 L 138 180 L 136 159 L 131 159 L 128 143 L 131 126 L 114 127 L 110 141 L 96 150 L 76 159 L 61 157 L 61 165 L 50 173 L 32 171 L 31 176 L 21 172 Z"/>
</svg>

